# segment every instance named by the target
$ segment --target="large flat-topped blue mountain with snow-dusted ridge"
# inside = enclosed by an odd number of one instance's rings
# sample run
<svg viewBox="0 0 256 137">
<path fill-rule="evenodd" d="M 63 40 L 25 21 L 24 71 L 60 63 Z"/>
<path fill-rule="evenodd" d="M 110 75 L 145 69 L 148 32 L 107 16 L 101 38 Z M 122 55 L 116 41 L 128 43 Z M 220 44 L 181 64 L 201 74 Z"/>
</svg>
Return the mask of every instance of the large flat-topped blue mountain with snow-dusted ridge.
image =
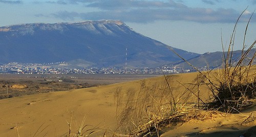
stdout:
<svg viewBox="0 0 256 137">
<path fill-rule="evenodd" d="M 181 61 L 169 48 L 185 59 L 199 56 L 145 37 L 119 20 L 3 26 L 0 48 L 2 64 L 65 61 L 81 67 L 123 67 L 127 57 L 128 68 L 141 68 Z"/>
</svg>

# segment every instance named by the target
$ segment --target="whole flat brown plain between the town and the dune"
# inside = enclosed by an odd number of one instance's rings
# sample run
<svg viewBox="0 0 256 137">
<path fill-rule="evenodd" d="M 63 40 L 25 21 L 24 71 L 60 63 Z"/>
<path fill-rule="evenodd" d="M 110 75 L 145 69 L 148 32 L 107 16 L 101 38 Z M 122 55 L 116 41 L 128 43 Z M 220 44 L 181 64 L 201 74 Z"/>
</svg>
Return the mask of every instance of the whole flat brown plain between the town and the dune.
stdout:
<svg viewBox="0 0 256 137">
<path fill-rule="evenodd" d="M 131 81 L 156 74 L 0 74 L 0 99 L 15 96 L 96 87 Z M 62 81 L 61 81 L 62 80 Z M 8 93 L 8 94 L 7 94 Z"/>
</svg>

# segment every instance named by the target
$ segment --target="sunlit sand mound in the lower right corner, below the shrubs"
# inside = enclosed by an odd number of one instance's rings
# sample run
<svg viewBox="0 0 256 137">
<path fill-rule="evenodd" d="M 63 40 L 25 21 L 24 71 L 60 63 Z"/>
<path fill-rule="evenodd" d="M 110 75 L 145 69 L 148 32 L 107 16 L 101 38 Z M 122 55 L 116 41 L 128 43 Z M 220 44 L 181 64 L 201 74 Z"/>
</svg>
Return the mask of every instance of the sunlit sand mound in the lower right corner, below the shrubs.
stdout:
<svg viewBox="0 0 256 137">
<path fill-rule="evenodd" d="M 253 109 L 254 112 L 243 114 L 201 111 L 172 130 L 163 129 L 161 136 L 256 136 L 256 107 Z"/>
</svg>

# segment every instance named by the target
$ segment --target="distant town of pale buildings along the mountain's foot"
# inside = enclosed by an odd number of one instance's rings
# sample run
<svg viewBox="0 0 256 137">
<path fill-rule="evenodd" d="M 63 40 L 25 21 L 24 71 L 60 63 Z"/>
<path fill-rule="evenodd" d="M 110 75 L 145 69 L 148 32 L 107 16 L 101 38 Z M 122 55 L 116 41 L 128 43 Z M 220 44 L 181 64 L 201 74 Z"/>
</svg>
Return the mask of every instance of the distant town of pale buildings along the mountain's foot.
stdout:
<svg viewBox="0 0 256 137">
<path fill-rule="evenodd" d="M 63 63 L 63 62 L 61 62 Z M 195 72 L 193 68 L 178 68 L 175 66 L 162 66 L 157 68 L 135 68 L 125 69 L 117 67 L 102 68 L 56 68 L 51 66 L 53 63 L 8 63 L 0 66 L 0 73 L 12 74 L 162 74 L 162 73 L 188 73 Z M 200 71 L 207 70 L 207 67 L 198 68 Z"/>
</svg>

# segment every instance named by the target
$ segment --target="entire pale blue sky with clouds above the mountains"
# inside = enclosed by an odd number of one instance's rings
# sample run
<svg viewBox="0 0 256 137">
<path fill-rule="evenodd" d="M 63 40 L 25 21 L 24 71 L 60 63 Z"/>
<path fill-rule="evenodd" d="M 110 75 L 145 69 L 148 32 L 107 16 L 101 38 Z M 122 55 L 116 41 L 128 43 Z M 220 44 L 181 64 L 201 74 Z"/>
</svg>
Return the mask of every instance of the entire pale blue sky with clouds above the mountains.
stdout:
<svg viewBox="0 0 256 137">
<path fill-rule="evenodd" d="M 0 0 L 0 26 L 115 19 L 169 46 L 205 53 L 222 51 L 222 42 L 227 48 L 234 24 L 245 10 L 234 42 L 234 49 L 241 49 L 255 9 L 256 0 Z M 245 44 L 255 39 L 256 13 Z"/>
</svg>

